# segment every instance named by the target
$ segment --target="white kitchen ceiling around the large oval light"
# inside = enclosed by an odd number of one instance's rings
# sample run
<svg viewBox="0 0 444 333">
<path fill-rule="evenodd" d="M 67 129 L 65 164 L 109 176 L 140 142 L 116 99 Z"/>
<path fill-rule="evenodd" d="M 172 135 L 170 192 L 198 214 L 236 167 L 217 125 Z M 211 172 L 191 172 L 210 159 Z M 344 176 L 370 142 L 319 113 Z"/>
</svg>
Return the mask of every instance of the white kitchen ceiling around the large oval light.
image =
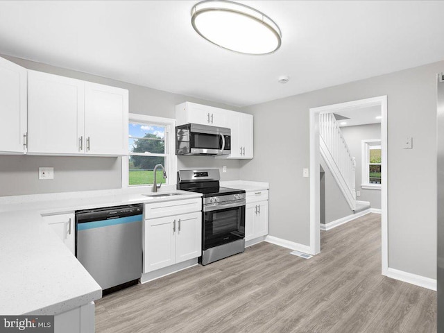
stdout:
<svg viewBox="0 0 444 333">
<path fill-rule="evenodd" d="M 196 2 L 0 1 L 0 53 L 237 106 L 444 59 L 444 1 L 239 1 L 280 26 L 267 56 L 203 40 Z"/>
</svg>

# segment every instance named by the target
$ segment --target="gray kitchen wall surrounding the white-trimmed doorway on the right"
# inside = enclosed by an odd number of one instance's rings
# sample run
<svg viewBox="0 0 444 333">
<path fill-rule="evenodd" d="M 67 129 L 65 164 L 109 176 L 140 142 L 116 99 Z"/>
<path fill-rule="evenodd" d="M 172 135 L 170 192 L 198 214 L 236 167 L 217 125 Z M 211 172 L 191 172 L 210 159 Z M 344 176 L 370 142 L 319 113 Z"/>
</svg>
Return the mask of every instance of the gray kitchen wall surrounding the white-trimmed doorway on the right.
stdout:
<svg viewBox="0 0 444 333">
<path fill-rule="evenodd" d="M 270 234 L 309 244 L 309 178 L 302 178 L 309 167 L 309 108 L 387 95 L 388 266 L 436 278 L 436 73 L 442 71 L 444 62 L 436 62 L 243 108 L 255 116 L 255 158 L 241 162 L 240 177 L 270 182 Z M 413 149 L 404 150 L 409 136 Z M 420 177 L 412 178 L 413 170 Z"/>
</svg>

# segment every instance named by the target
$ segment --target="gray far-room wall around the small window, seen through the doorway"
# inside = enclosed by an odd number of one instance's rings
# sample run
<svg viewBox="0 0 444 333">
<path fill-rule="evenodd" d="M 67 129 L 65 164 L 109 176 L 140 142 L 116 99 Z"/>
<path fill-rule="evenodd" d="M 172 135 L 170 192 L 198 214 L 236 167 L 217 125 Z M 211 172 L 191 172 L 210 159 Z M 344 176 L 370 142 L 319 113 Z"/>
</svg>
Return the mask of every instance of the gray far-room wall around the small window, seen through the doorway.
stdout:
<svg viewBox="0 0 444 333">
<path fill-rule="evenodd" d="M 369 201 L 370 207 L 381 209 L 381 190 L 379 189 L 363 189 L 361 188 L 361 166 L 362 151 L 361 142 L 364 139 L 381 139 L 381 124 L 371 123 L 361 126 L 341 127 L 342 135 L 347 142 L 348 148 L 352 156 L 356 157 L 355 180 L 356 190 L 361 191 L 361 196 L 357 200 Z"/>
</svg>

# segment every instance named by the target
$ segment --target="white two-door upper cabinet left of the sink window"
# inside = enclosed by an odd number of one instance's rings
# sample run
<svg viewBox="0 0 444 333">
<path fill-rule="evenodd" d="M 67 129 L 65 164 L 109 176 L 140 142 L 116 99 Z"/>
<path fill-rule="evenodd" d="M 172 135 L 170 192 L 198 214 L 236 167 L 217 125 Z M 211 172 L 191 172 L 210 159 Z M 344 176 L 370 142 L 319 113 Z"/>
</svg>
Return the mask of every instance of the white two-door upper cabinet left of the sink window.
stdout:
<svg viewBox="0 0 444 333">
<path fill-rule="evenodd" d="M 28 72 L 28 153 L 126 155 L 128 90 Z"/>
</svg>

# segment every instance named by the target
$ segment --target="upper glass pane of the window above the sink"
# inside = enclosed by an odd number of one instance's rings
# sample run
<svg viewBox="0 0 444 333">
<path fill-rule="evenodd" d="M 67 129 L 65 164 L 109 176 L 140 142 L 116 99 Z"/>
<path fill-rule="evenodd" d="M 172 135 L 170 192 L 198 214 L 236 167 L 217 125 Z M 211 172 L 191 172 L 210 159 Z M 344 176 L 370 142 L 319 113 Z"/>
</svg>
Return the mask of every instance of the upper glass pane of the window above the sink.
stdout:
<svg viewBox="0 0 444 333">
<path fill-rule="evenodd" d="M 143 125 L 129 123 L 128 151 L 133 153 L 165 153 L 165 128 L 164 126 Z"/>
</svg>

